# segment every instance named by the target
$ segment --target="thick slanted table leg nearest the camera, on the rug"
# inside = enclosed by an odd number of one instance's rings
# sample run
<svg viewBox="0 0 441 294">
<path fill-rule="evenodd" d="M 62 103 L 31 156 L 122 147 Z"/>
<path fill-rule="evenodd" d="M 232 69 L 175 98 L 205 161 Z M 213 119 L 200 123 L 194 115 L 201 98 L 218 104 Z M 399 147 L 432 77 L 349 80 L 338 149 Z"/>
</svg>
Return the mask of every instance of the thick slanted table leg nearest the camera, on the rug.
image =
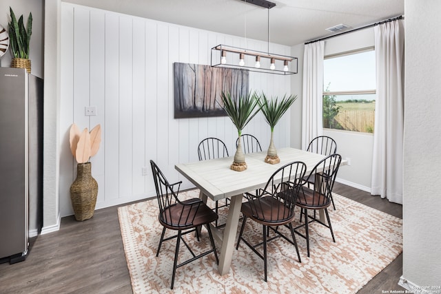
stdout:
<svg viewBox="0 0 441 294">
<path fill-rule="evenodd" d="M 225 224 L 225 229 L 223 231 L 223 241 L 220 249 L 218 266 L 220 275 L 225 275 L 228 273 L 229 266 L 232 263 L 234 241 L 236 240 L 241 206 L 242 194 L 231 198 L 228 208 L 227 224 Z"/>
</svg>

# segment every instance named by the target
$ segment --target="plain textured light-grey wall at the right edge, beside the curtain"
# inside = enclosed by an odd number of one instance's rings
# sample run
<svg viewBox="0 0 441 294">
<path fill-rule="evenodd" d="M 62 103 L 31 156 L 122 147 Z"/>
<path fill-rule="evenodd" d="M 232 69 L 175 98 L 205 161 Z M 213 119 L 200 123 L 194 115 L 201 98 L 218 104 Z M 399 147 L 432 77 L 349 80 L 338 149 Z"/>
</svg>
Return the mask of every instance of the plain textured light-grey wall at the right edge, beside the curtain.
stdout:
<svg viewBox="0 0 441 294">
<path fill-rule="evenodd" d="M 402 283 L 441 286 L 440 1 L 404 2 L 405 93 Z"/>
</svg>

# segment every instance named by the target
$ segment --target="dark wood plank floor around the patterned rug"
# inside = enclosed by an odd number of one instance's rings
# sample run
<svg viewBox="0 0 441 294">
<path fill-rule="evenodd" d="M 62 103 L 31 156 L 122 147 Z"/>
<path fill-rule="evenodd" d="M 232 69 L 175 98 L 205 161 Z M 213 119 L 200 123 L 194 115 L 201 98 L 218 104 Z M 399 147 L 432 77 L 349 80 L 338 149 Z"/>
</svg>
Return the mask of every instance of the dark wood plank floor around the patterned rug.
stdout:
<svg viewBox="0 0 441 294">
<path fill-rule="evenodd" d="M 402 218 L 399 204 L 339 183 L 334 191 Z M 404 290 L 397 284 L 401 275 L 399 255 L 358 293 Z M 132 293 L 117 207 L 99 209 L 84 222 L 63 218 L 59 231 L 37 238 L 27 260 L 0 264 L 0 293 Z"/>
</svg>

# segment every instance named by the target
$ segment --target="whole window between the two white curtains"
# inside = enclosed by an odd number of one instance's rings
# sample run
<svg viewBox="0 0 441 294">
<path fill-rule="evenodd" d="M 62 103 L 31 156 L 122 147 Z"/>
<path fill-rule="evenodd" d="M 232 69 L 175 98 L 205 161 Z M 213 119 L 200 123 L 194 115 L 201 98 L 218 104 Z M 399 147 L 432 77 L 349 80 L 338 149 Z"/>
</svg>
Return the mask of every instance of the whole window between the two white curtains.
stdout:
<svg viewBox="0 0 441 294">
<path fill-rule="evenodd" d="M 323 127 L 373 133 L 375 63 L 373 48 L 325 56 Z"/>
</svg>

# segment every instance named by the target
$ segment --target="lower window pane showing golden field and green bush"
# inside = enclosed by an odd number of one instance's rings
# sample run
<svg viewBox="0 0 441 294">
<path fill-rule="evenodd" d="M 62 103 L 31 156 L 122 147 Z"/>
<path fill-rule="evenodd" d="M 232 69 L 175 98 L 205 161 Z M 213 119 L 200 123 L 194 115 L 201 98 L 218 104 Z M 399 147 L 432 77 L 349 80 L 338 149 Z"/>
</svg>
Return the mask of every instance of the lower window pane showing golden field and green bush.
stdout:
<svg viewBox="0 0 441 294">
<path fill-rule="evenodd" d="M 373 133 L 375 95 L 323 96 L 323 127 Z"/>
</svg>

